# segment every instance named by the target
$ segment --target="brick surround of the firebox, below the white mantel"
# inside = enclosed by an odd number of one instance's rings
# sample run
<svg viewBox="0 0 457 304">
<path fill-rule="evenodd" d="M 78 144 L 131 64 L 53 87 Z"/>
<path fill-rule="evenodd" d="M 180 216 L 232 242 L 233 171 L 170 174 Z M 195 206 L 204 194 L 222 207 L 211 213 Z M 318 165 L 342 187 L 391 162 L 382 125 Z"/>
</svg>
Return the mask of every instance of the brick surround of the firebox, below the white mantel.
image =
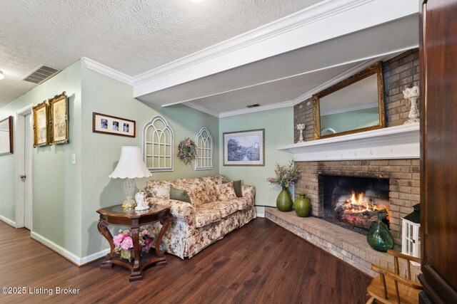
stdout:
<svg viewBox="0 0 457 304">
<path fill-rule="evenodd" d="M 323 216 L 323 193 L 319 189 L 318 174 L 389 179 L 391 232 L 397 245 L 401 245 L 401 217 L 413 211 L 419 203 L 419 159 L 381 159 L 333 162 L 296 162 L 301 179 L 295 193 L 306 193 L 313 206 L 313 216 Z"/>
</svg>

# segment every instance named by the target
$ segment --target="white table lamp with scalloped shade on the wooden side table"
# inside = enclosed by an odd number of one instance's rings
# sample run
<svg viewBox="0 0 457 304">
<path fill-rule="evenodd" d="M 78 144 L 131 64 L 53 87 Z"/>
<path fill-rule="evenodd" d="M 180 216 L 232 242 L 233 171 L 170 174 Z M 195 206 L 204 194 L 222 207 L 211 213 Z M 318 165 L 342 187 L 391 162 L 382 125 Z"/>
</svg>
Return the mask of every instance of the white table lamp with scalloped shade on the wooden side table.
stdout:
<svg viewBox="0 0 457 304">
<path fill-rule="evenodd" d="M 124 182 L 124 191 L 126 192 L 126 200 L 122 203 L 122 209 L 134 209 L 136 203 L 133 199 L 135 192 L 135 178 L 150 177 L 152 174 L 144 164 L 141 157 L 140 147 L 121 147 L 121 157 L 114 169 L 109 175 L 112 179 L 126 179 Z"/>
</svg>

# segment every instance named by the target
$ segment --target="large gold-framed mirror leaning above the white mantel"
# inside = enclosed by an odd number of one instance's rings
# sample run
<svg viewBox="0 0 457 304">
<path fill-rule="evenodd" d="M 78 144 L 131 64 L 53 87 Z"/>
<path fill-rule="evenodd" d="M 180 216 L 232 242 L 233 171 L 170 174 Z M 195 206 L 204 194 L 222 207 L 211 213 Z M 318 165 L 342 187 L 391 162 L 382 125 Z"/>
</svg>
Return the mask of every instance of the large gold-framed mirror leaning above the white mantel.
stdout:
<svg viewBox="0 0 457 304">
<path fill-rule="evenodd" d="M 314 139 L 385 126 L 381 63 L 313 95 Z"/>
</svg>

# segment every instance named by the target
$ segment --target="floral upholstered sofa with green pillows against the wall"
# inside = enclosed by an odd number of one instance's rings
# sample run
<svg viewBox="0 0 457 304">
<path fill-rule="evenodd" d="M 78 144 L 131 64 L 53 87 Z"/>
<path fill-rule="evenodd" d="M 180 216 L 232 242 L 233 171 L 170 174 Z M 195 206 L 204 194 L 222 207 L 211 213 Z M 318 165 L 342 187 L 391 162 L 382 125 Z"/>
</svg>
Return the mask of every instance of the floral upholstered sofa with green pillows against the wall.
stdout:
<svg viewBox="0 0 457 304">
<path fill-rule="evenodd" d="M 170 187 L 186 190 L 190 203 L 170 199 Z M 256 218 L 255 188 L 242 185 L 241 190 L 243 197 L 236 197 L 233 183 L 221 175 L 146 182 L 146 201 L 171 207 L 171 224 L 162 239 L 161 250 L 191 258 Z M 150 225 L 148 229 L 157 236 L 161 224 Z"/>
</svg>

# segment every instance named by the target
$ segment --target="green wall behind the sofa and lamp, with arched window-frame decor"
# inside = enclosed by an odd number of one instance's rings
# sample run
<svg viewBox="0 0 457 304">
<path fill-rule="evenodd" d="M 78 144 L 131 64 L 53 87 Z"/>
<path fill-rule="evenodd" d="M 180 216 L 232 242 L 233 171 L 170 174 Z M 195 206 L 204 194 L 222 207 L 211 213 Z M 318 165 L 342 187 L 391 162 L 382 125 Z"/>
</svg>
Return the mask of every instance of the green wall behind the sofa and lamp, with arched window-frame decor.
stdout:
<svg viewBox="0 0 457 304">
<path fill-rule="evenodd" d="M 82 70 L 82 256 L 105 249 L 107 242 L 96 229 L 99 216 L 96 209 L 121 204 L 125 196 L 123 179 L 110 179 L 121 154 L 121 146 L 141 147 L 142 130 L 154 116 L 164 117 L 174 132 L 174 171 L 152 172 L 152 177 L 136 179 L 136 187 L 143 189 L 149 179 L 176 179 L 219 174 L 218 118 L 189 108 L 174 105 L 169 108 L 150 108 L 132 98 L 133 88 L 87 68 Z M 92 112 L 136 120 L 136 137 L 122 137 L 92 132 Z M 201 127 L 206 127 L 214 139 L 214 169 L 195 171 L 177 157 L 178 144 L 185 137 L 194 139 Z"/>
</svg>

